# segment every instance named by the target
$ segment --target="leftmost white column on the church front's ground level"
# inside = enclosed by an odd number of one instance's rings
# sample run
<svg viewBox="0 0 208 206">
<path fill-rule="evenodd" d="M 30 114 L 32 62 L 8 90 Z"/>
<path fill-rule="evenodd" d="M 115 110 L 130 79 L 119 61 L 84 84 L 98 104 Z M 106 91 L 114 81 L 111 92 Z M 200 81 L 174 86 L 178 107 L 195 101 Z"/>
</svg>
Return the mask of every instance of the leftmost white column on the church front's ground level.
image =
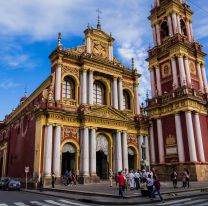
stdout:
<svg viewBox="0 0 208 206">
<path fill-rule="evenodd" d="M 51 176 L 51 163 L 52 163 L 52 134 L 53 126 L 46 126 L 45 138 L 45 154 L 44 154 L 44 175 Z"/>
</svg>

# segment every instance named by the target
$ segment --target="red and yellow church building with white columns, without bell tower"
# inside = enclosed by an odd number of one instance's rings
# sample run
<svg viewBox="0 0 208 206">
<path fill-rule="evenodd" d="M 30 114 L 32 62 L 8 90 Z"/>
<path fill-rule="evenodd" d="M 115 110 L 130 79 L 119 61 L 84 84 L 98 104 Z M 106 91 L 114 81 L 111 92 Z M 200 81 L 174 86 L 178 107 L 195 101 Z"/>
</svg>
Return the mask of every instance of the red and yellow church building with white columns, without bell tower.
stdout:
<svg viewBox="0 0 208 206">
<path fill-rule="evenodd" d="M 140 108 L 140 75 L 113 56 L 114 38 L 88 27 L 84 45 L 51 53 L 51 75 L 5 117 L 0 127 L 0 176 L 60 178 L 81 183 L 109 171 L 150 166 L 149 121 Z"/>
</svg>

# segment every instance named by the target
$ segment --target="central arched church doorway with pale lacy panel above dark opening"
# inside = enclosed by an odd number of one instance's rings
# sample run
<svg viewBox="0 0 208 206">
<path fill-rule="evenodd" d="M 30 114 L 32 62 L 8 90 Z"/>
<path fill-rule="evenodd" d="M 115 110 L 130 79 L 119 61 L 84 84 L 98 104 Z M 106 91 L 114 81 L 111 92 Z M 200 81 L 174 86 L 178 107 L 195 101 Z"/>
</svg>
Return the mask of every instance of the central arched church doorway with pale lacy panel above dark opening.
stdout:
<svg viewBox="0 0 208 206">
<path fill-rule="evenodd" d="M 100 179 L 107 179 L 109 172 L 108 140 L 103 134 L 96 139 L 96 173 Z"/>
</svg>

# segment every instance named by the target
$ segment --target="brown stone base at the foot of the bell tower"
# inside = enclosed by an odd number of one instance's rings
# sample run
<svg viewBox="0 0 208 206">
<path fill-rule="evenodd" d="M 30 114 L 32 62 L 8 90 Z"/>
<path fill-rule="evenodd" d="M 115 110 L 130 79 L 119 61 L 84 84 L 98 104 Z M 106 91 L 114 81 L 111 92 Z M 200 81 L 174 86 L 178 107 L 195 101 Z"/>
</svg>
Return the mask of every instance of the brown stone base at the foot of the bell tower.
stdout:
<svg viewBox="0 0 208 206">
<path fill-rule="evenodd" d="M 158 178 L 162 181 L 170 181 L 170 175 L 174 168 L 178 173 L 179 181 L 184 169 L 189 171 L 191 181 L 208 181 L 208 163 L 166 163 L 151 165 L 151 168 L 153 167 Z"/>
</svg>

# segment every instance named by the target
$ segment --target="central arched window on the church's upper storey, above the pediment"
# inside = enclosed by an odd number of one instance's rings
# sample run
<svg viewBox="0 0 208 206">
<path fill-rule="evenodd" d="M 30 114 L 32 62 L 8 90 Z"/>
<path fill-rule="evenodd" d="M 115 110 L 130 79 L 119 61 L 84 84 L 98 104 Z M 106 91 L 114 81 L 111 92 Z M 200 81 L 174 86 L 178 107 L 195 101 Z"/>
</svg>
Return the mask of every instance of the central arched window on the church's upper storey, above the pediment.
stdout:
<svg viewBox="0 0 208 206">
<path fill-rule="evenodd" d="M 105 104 L 105 87 L 99 81 L 95 81 L 93 85 L 93 103 Z"/>
</svg>

